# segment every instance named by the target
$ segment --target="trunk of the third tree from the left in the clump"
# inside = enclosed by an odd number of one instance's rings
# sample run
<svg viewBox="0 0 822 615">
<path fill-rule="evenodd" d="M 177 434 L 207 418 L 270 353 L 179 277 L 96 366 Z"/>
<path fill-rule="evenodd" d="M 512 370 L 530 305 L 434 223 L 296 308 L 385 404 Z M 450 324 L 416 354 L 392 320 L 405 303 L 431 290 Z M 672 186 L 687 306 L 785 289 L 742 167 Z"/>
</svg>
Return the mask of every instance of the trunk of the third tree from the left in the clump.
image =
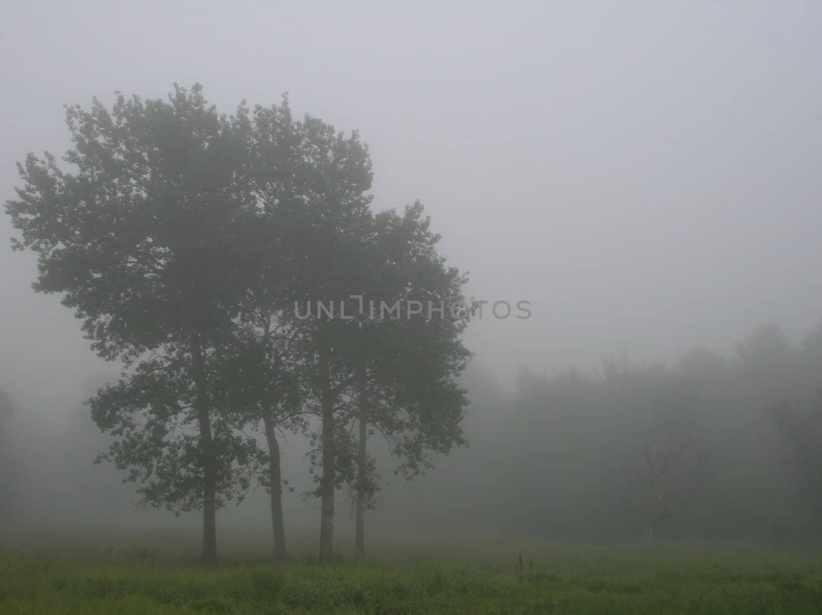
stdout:
<svg viewBox="0 0 822 615">
<path fill-rule="evenodd" d="M 319 377 L 322 404 L 322 498 L 320 513 L 320 563 L 334 562 L 334 490 L 335 490 L 335 442 L 334 442 L 334 394 L 331 390 L 330 347 L 323 340 L 319 353 Z"/>
</svg>

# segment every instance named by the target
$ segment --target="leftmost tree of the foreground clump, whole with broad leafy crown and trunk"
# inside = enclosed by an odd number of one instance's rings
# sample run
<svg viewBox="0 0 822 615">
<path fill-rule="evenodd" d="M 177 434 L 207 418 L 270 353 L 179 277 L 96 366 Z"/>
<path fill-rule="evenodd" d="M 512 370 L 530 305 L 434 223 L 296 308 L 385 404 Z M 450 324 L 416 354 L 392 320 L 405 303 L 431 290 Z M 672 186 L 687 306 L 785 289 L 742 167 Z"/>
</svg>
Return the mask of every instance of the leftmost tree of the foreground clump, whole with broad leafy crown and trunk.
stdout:
<svg viewBox="0 0 822 615">
<path fill-rule="evenodd" d="M 65 165 L 48 152 L 18 165 L 13 245 L 38 255 L 35 290 L 63 294 L 92 348 L 128 370 L 92 400 L 120 437 L 113 460 L 148 482 L 150 503 L 201 508 L 213 559 L 216 510 L 248 452 L 210 385 L 256 273 L 247 109 L 226 117 L 201 86 L 175 85 L 168 100 L 70 106 L 67 123 Z"/>
</svg>

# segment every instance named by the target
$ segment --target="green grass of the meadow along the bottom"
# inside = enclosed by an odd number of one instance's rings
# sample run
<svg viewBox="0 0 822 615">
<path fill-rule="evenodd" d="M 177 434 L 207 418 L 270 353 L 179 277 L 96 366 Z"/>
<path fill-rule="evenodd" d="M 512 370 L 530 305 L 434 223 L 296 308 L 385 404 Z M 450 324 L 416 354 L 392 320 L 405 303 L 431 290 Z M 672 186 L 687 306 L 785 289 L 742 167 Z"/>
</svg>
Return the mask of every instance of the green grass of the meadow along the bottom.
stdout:
<svg viewBox="0 0 822 615">
<path fill-rule="evenodd" d="M 473 543 L 468 561 L 459 541 L 439 540 L 417 557 L 378 551 L 365 566 L 274 564 L 241 550 L 205 565 L 168 538 L 135 542 L 0 551 L 0 613 L 822 613 L 822 560 L 750 548 L 542 545 L 524 552 L 520 579 L 506 541 L 496 558 Z"/>
</svg>

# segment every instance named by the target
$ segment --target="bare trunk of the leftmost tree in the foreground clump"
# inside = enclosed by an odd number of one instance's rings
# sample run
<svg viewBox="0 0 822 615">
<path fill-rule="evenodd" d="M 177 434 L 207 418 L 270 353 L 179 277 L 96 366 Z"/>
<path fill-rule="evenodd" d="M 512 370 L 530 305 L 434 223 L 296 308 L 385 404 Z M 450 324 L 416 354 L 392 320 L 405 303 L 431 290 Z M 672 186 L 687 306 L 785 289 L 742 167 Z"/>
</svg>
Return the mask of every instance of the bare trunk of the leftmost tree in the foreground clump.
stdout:
<svg viewBox="0 0 822 615">
<path fill-rule="evenodd" d="M 200 442 L 203 451 L 203 559 L 217 559 L 217 466 L 214 438 L 208 403 L 208 382 L 205 378 L 200 336 L 192 333 L 192 363 L 196 386 L 197 420 L 200 423 Z"/>
</svg>

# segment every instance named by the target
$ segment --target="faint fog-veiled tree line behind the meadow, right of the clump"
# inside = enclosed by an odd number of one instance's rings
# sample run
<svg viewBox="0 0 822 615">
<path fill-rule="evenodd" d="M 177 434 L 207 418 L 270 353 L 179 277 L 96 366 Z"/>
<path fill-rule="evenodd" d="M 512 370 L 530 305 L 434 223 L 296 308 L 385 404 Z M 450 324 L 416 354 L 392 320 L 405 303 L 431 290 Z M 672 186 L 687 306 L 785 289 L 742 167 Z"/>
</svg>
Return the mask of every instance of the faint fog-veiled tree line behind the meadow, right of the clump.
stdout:
<svg viewBox="0 0 822 615">
<path fill-rule="evenodd" d="M 471 448 L 443 459 L 420 518 L 560 540 L 822 538 L 822 325 L 792 345 L 760 326 L 731 356 L 521 368 L 513 391 L 471 368 Z M 417 488 L 386 503 L 415 511 Z"/>
</svg>

